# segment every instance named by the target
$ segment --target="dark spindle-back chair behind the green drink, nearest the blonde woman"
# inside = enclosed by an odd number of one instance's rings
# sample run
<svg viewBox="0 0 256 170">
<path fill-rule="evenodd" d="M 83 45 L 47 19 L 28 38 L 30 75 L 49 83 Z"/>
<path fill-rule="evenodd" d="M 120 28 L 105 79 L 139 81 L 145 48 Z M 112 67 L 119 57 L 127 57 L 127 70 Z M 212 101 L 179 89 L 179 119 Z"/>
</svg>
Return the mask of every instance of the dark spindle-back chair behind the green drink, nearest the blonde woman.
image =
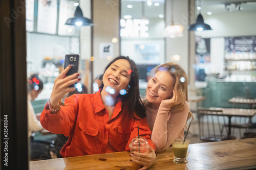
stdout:
<svg viewBox="0 0 256 170">
<path fill-rule="evenodd" d="M 227 127 L 223 128 L 226 120 L 221 109 L 198 108 L 199 138 L 202 141 L 222 141 L 236 139 L 229 136 Z M 224 130 L 225 129 L 225 130 Z"/>
</svg>

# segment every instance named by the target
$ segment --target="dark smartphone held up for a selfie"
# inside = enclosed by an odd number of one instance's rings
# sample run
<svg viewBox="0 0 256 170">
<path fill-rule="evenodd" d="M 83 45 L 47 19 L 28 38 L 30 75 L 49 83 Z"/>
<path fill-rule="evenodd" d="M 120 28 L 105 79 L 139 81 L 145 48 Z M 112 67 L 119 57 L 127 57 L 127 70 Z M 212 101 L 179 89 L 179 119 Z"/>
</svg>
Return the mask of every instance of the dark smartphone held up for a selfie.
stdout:
<svg viewBox="0 0 256 170">
<path fill-rule="evenodd" d="M 66 74 L 67 76 L 73 75 L 74 73 L 78 72 L 79 58 L 79 54 L 67 54 L 65 56 L 64 69 L 67 66 L 72 65 L 72 67 Z"/>
</svg>

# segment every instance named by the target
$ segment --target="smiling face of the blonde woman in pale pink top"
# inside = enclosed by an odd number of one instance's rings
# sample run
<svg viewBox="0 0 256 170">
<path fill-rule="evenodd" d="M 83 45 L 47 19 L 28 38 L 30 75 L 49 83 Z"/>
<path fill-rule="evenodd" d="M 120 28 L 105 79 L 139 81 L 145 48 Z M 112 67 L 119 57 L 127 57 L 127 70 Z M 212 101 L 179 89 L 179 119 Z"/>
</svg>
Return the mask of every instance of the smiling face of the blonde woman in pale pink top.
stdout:
<svg viewBox="0 0 256 170">
<path fill-rule="evenodd" d="M 167 71 L 157 71 L 147 83 L 146 100 L 152 109 L 158 109 L 162 100 L 171 99 L 175 80 Z"/>
</svg>

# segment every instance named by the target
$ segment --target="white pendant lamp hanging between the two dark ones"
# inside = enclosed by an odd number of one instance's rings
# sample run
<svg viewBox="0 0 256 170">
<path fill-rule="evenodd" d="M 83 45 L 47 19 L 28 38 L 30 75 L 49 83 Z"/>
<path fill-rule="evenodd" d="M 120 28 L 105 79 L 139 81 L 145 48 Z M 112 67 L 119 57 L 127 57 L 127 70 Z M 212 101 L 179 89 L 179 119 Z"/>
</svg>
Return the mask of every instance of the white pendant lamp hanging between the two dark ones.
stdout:
<svg viewBox="0 0 256 170">
<path fill-rule="evenodd" d="M 171 4 L 171 18 L 172 18 L 172 24 L 165 27 L 164 30 L 163 30 L 163 36 L 164 37 L 169 37 L 169 38 L 175 38 L 175 37 L 183 37 L 183 26 L 179 26 L 179 25 L 175 25 L 174 24 L 174 1 L 172 1 L 172 4 Z"/>
</svg>

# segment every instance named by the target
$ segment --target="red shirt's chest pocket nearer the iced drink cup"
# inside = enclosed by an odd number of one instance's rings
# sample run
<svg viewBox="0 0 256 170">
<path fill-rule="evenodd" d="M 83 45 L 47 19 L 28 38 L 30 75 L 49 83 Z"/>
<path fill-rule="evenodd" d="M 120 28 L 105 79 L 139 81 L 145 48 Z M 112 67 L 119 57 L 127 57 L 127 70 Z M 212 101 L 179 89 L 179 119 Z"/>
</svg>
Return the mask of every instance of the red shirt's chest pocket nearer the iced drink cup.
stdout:
<svg viewBox="0 0 256 170">
<path fill-rule="evenodd" d="M 125 150 L 126 144 L 131 136 L 130 126 L 117 126 L 117 134 L 114 142 L 114 147 Z"/>
</svg>

